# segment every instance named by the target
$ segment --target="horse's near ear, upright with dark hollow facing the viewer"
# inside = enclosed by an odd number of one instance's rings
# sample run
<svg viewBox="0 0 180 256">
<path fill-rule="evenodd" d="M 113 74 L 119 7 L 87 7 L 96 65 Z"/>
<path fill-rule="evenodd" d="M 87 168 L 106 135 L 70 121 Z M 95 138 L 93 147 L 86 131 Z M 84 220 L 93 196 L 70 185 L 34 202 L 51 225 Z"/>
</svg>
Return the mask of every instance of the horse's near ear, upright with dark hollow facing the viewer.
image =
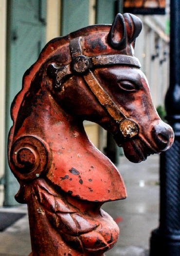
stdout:
<svg viewBox="0 0 180 256">
<path fill-rule="evenodd" d="M 122 14 L 118 13 L 108 33 L 108 44 L 117 50 L 126 48 L 127 32 L 126 24 Z"/>
</svg>

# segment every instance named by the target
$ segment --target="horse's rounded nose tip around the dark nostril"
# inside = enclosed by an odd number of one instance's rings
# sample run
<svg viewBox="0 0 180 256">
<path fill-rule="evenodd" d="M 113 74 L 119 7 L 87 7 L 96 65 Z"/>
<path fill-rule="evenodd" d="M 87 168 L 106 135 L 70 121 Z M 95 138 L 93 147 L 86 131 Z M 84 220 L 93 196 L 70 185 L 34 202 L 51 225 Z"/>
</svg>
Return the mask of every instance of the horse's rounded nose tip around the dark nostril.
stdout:
<svg viewBox="0 0 180 256">
<path fill-rule="evenodd" d="M 174 141 L 174 132 L 170 125 L 159 121 L 152 129 L 152 138 L 158 147 L 159 151 L 169 149 Z"/>
</svg>

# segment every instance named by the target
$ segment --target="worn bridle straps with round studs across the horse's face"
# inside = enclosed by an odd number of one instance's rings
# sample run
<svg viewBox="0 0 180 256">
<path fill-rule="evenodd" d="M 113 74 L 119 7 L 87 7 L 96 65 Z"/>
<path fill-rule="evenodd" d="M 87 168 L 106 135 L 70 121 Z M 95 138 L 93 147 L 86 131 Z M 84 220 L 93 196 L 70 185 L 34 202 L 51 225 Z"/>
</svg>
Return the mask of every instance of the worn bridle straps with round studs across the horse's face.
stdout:
<svg viewBox="0 0 180 256">
<path fill-rule="evenodd" d="M 117 64 L 140 68 L 141 64 L 139 60 L 135 57 L 126 55 L 102 55 L 88 58 L 82 54 L 81 37 L 70 41 L 70 50 L 72 55 L 72 70 L 76 73 L 83 74 L 83 77 L 94 96 L 108 111 L 109 115 L 116 121 L 116 123 L 119 124 L 119 129 L 124 138 L 132 138 L 136 136 L 139 132 L 137 123 L 127 118 L 126 115 L 118 108 L 112 98 L 109 97 L 108 93 L 96 79 L 90 68 Z"/>
</svg>

